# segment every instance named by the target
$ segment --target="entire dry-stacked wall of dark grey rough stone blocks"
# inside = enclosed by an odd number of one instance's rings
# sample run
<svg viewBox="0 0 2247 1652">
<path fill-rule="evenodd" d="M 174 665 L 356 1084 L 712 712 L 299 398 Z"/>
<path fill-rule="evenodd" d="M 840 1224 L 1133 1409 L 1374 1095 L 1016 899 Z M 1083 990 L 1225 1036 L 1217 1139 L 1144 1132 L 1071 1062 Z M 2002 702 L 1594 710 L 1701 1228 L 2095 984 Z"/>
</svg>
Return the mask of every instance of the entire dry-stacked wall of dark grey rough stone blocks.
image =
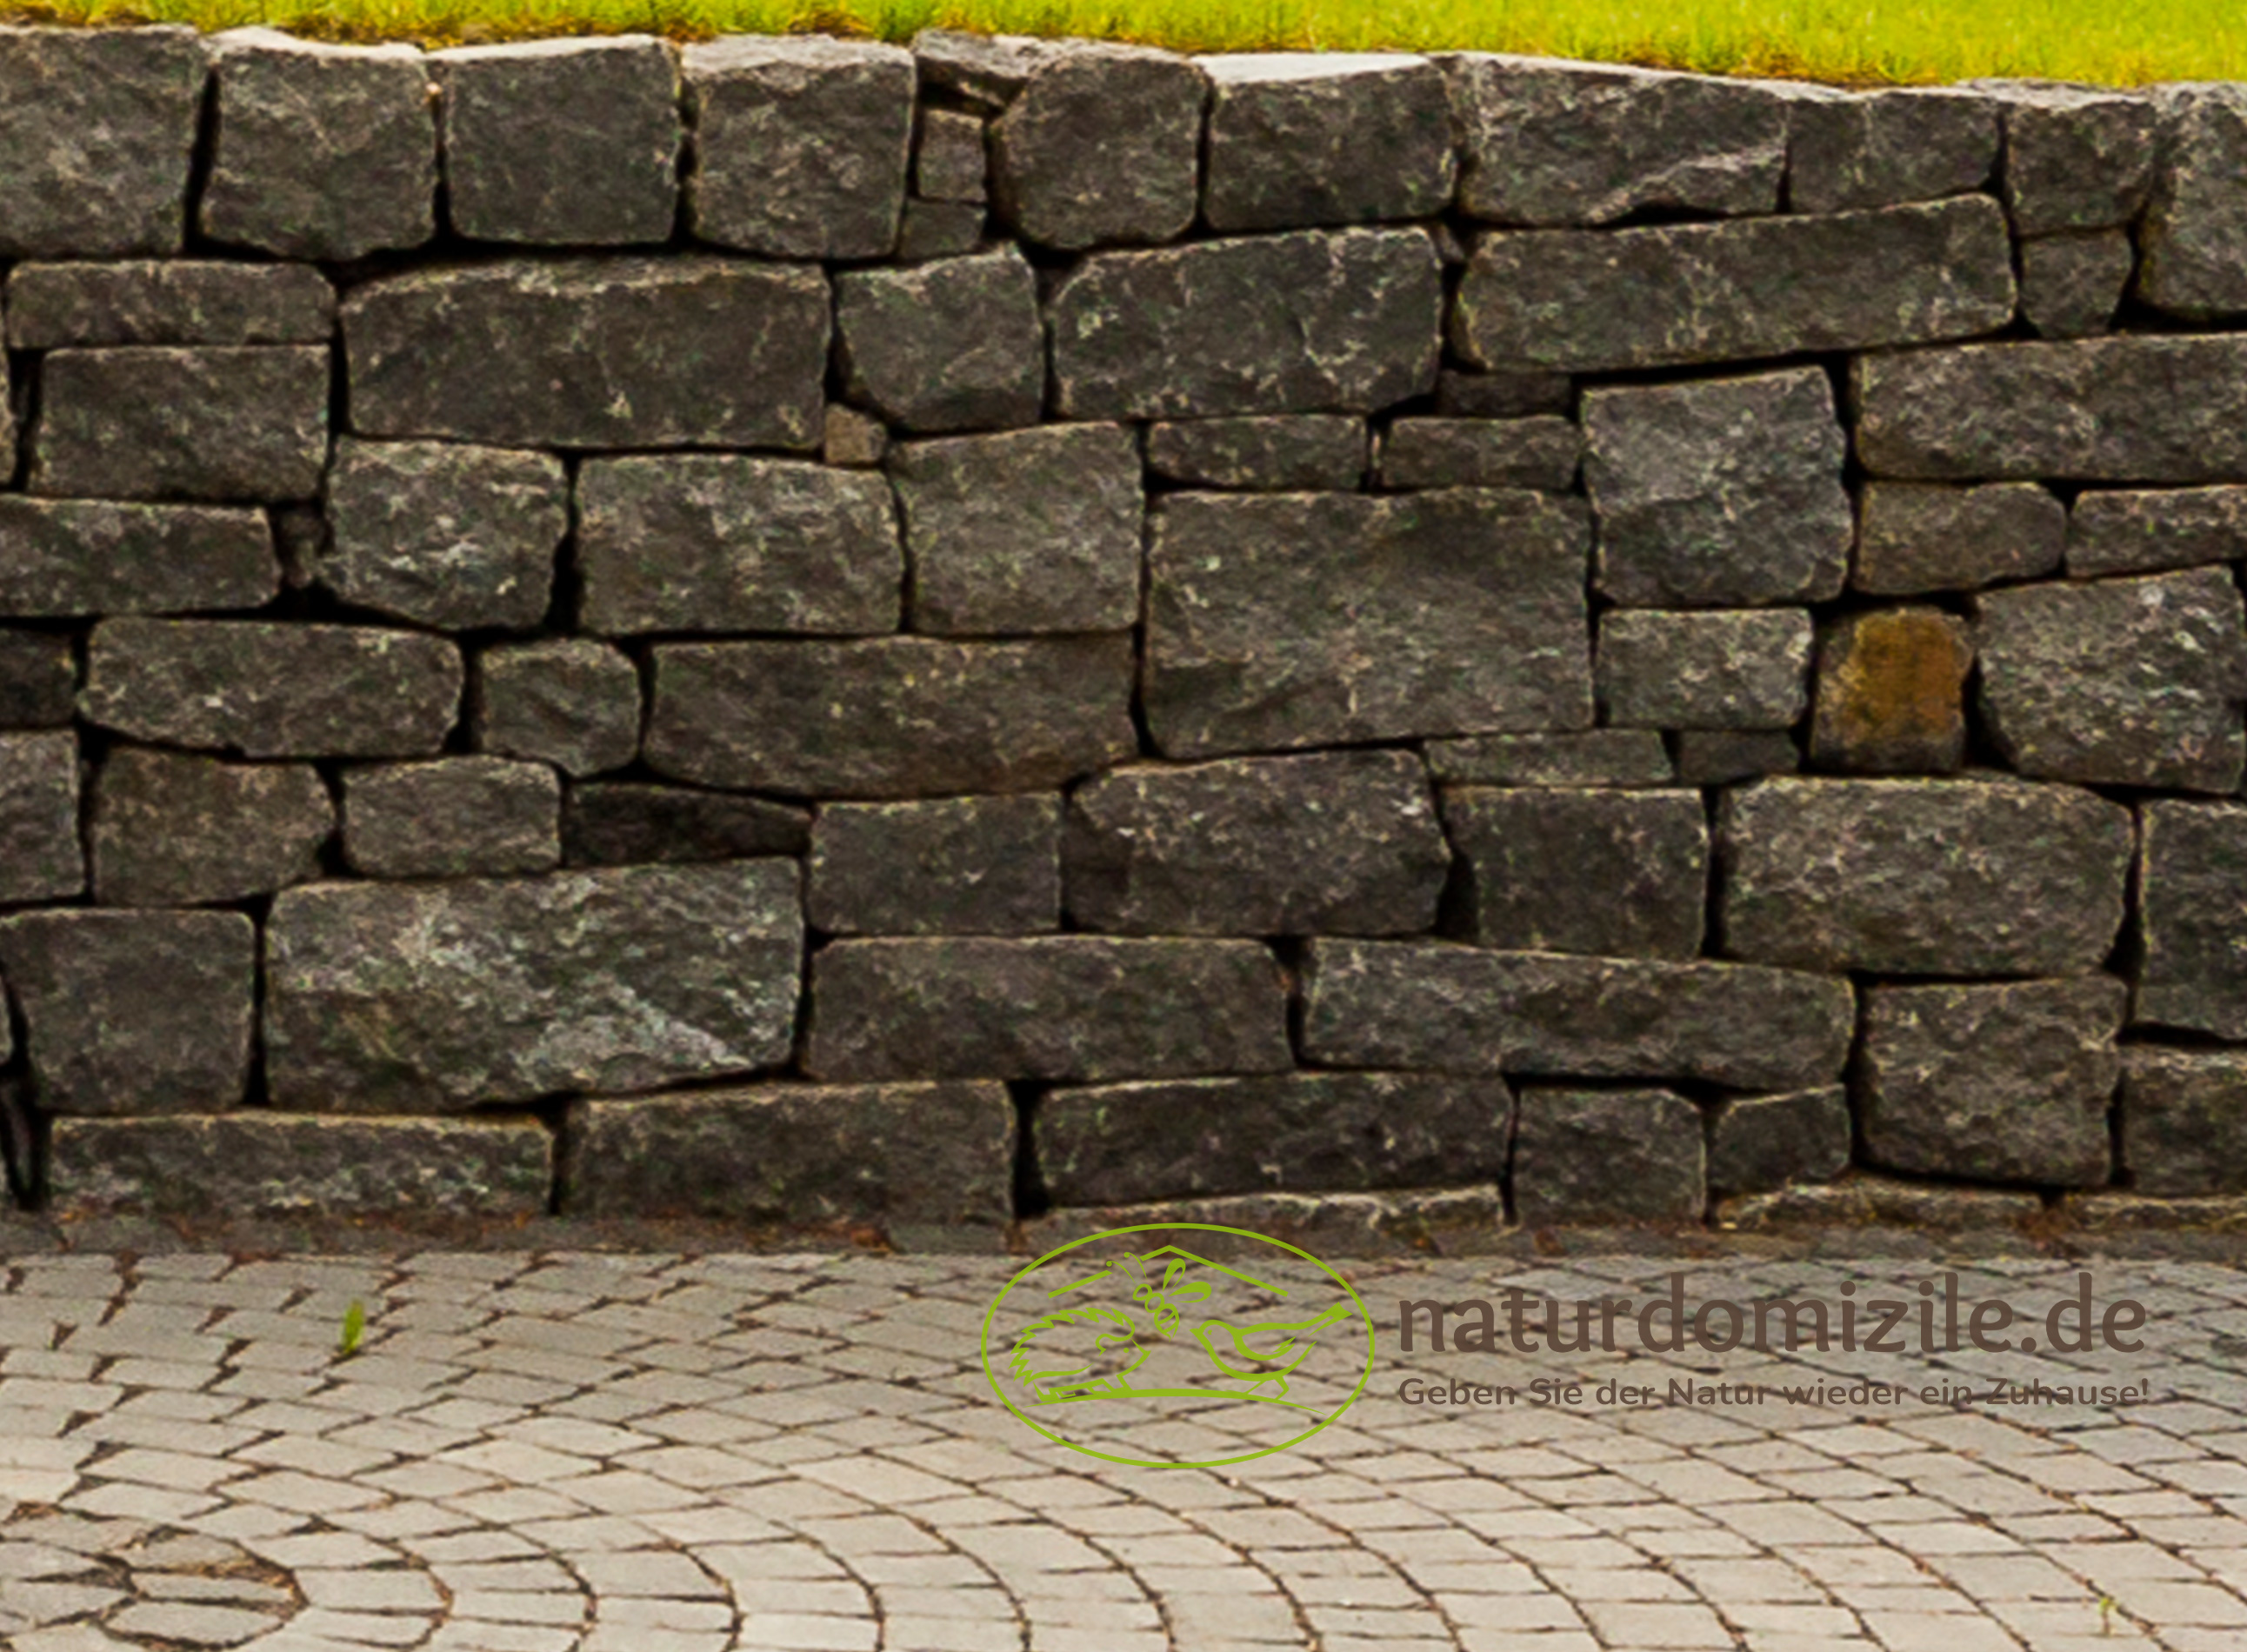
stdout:
<svg viewBox="0 0 2247 1652">
<path fill-rule="evenodd" d="M 7 29 L 0 256 L 25 1202 L 2247 1193 L 2243 88 Z"/>
</svg>

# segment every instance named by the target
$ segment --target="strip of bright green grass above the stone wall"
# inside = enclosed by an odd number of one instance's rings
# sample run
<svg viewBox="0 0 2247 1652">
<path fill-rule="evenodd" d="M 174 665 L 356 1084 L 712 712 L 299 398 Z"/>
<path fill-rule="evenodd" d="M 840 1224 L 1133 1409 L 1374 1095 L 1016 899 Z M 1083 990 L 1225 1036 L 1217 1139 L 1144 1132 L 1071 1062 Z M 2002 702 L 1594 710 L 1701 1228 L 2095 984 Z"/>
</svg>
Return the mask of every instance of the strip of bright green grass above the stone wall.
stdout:
<svg viewBox="0 0 2247 1652">
<path fill-rule="evenodd" d="M 910 40 L 953 27 L 1182 52 L 1470 47 L 1847 85 L 2247 79 L 2247 7 L 2220 0 L 43 0 L 16 16 L 427 45 L 634 29 Z"/>
</svg>

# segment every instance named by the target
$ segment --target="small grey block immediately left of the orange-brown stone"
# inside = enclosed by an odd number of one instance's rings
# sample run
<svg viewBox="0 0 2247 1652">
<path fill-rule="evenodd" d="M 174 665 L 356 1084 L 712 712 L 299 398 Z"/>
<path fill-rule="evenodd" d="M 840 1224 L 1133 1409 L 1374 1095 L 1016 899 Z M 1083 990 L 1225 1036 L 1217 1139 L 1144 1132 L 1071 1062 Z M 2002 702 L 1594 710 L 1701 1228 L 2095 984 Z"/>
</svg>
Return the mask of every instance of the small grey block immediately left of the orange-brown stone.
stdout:
<svg viewBox="0 0 2247 1652">
<path fill-rule="evenodd" d="M 1609 609 L 1595 681 L 1618 728 L 1793 728 L 1809 706 L 1807 609 Z"/>
</svg>

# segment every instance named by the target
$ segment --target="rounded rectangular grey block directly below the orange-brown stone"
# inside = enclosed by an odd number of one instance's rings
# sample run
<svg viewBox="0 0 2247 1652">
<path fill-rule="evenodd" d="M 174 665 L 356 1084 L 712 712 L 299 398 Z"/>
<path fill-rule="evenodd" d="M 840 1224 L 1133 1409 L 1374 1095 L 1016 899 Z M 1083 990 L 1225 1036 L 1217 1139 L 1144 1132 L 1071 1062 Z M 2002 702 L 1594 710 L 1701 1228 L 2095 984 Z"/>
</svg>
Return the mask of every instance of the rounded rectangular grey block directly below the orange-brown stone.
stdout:
<svg viewBox="0 0 2247 1652">
<path fill-rule="evenodd" d="M 2130 872 L 2128 809 L 2022 780 L 1766 780 L 1717 841 L 1723 951 L 1798 969 L 2096 969 Z"/>
</svg>

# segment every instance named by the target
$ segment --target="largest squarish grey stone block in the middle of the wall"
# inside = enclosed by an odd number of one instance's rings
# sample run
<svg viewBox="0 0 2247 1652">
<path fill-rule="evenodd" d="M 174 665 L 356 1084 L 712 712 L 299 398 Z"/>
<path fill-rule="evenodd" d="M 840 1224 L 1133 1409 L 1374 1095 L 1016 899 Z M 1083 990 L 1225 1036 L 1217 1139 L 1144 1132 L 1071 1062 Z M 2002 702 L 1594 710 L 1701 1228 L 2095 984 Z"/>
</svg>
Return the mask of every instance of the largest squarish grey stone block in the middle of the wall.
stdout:
<svg viewBox="0 0 2247 1652">
<path fill-rule="evenodd" d="M 1573 499 L 1173 494 L 1148 519 L 1166 757 L 1591 726 Z"/>
</svg>

